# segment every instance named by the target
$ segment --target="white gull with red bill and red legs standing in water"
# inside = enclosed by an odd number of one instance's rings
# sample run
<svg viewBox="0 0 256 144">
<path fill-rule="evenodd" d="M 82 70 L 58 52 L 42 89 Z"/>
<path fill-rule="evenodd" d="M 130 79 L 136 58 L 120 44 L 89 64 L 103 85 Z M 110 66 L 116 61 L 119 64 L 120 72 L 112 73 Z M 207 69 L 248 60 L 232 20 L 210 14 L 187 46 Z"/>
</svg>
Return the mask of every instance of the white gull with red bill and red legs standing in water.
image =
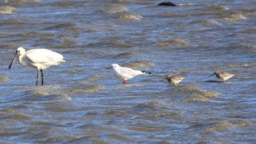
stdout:
<svg viewBox="0 0 256 144">
<path fill-rule="evenodd" d="M 118 64 L 112 64 L 111 67 L 107 69 L 113 69 L 114 75 L 121 80 L 124 80 L 124 85 L 127 84 L 127 80 L 143 74 L 151 74 L 151 72 L 140 71 L 135 69 L 130 69 L 128 67 L 120 67 Z"/>
</svg>

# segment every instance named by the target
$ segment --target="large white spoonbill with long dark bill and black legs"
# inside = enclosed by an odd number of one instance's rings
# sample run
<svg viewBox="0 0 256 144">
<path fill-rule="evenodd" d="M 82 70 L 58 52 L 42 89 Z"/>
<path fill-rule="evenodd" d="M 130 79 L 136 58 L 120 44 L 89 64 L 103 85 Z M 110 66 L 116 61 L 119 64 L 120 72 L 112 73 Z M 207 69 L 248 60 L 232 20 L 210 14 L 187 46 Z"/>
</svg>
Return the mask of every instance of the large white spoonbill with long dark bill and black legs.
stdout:
<svg viewBox="0 0 256 144">
<path fill-rule="evenodd" d="M 47 69 L 51 66 L 59 65 L 63 60 L 63 56 L 59 53 L 53 52 L 47 49 L 34 49 L 26 51 L 24 48 L 20 47 L 16 50 L 15 57 L 9 66 L 12 69 L 15 58 L 18 56 L 18 61 L 23 66 L 29 66 L 37 69 L 37 83 L 39 80 L 39 70 L 41 71 L 42 86 L 44 83 L 44 74 L 42 69 Z M 36 83 L 36 86 L 37 86 Z"/>
</svg>

